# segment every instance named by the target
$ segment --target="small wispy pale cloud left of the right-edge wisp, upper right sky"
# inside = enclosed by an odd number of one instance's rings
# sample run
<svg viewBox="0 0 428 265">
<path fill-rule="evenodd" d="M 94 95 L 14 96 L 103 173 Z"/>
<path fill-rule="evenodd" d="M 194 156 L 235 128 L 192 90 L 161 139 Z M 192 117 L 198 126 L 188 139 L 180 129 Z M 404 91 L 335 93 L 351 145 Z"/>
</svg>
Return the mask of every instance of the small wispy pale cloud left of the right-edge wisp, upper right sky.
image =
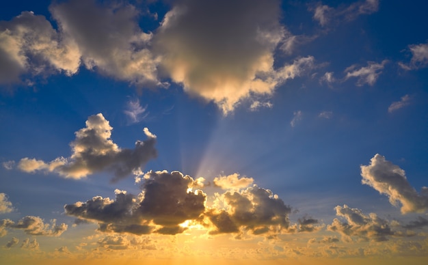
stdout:
<svg viewBox="0 0 428 265">
<path fill-rule="evenodd" d="M 384 69 L 386 63 L 388 63 L 387 60 L 382 61 L 380 64 L 377 64 L 374 61 L 368 61 L 366 67 L 359 69 L 356 69 L 356 65 L 349 66 L 345 69 L 345 80 L 351 77 L 357 77 L 358 86 L 362 86 L 364 84 L 374 85 L 377 81 L 377 78 L 379 78 L 379 75 L 382 74 L 382 70 Z"/>
</svg>

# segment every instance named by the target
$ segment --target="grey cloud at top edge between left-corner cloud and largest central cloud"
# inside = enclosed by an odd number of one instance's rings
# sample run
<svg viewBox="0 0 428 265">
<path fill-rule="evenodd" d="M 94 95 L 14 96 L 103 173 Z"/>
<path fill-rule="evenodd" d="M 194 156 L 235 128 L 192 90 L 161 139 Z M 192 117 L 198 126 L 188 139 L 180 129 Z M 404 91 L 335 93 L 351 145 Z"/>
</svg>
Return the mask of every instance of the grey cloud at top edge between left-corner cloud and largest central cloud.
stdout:
<svg viewBox="0 0 428 265">
<path fill-rule="evenodd" d="M 70 0 L 53 3 L 50 11 L 62 38 L 78 47 L 86 68 L 136 85 L 161 85 L 159 59 L 148 49 L 152 34 L 139 28 L 134 5 Z"/>
</svg>

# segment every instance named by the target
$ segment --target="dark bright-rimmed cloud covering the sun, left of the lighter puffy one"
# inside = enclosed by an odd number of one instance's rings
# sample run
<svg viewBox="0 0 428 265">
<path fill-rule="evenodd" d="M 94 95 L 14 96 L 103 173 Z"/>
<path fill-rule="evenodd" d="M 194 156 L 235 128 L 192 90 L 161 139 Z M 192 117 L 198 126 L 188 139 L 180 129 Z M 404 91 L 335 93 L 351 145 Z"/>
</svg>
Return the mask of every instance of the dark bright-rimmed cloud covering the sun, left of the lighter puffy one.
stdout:
<svg viewBox="0 0 428 265">
<path fill-rule="evenodd" d="M 178 234 L 179 224 L 195 220 L 205 210 L 206 195 L 191 191 L 194 180 L 178 171 L 149 171 L 143 192 L 131 195 L 116 190 L 116 199 L 93 197 L 64 206 L 66 214 L 96 221 L 101 232 Z"/>
</svg>

